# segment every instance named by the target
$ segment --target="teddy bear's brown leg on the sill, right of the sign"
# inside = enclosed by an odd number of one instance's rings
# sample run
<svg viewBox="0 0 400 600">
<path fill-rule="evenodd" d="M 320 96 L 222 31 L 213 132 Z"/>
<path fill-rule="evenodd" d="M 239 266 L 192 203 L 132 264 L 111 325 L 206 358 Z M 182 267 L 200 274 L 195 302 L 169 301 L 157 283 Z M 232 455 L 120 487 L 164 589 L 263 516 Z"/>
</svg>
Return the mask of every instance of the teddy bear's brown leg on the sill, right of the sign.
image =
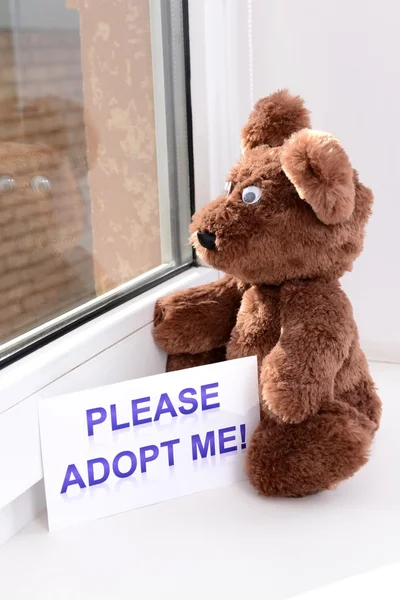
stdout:
<svg viewBox="0 0 400 600">
<path fill-rule="evenodd" d="M 264 418 L 246 455 L 250 483 L 265 496 L 306 496 L 351 477 L 368 460 L 373 428 L 363 415 L 318 413 L 297 425 Z"/>
</svg>

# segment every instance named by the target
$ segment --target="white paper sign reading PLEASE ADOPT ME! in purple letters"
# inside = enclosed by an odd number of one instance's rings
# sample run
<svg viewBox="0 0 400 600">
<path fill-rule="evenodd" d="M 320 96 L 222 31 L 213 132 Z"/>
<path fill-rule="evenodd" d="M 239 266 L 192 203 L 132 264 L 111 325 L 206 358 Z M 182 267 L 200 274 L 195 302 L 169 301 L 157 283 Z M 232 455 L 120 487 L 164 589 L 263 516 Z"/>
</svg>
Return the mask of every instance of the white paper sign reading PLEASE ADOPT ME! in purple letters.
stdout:
<svg viewBox="0 0 400 600">
<path fill-rule="evenodd" d="M 259 420 L 257 359 L 46 398 L 39 419 L 51 530 L 226 485 Z"/>
</svg>

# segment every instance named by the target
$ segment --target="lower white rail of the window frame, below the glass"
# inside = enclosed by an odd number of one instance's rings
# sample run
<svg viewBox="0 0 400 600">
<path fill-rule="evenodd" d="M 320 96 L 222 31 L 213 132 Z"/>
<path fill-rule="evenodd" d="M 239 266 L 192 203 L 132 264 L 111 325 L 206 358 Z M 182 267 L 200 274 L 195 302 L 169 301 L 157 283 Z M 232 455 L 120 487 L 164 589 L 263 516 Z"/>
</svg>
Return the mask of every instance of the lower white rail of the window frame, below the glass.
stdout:
<svg viewBox="0 0 400 600">
<path fill-rule="evenodd" d="M 129 349 L 135 347 L 137 340 L 143 341 L 144 338 L 147 344 L 153 344 L 149 333 L 154 303 L 158 298 L 214 281 L 218 277 L 219 273 L 212 269 L 192 268 L 66 334 L 1 372 L 0 509 L 43 477 L 37 419 L 38 400 L 42 396 L 53 395 L 53 387 L 57 388 L 54 395 L 72 391 L 71 387 L 76 389 L 83 379 L 85 388 L 99 385 L 96 373 L 104 364 L 105 356 L 107 360 L 120 361 L 121 353 L 124 349 L 126 351 L 124 340 Z M 131 337 L 133 334 L 135 336 Z M 150 350 L 153 354 L 152 346 Z M 157 352 L 159 350 L 154 345 L 154 354 Z M 102 384 L 106 383 L 107 377 L 103 376 Z"/>
</svg>

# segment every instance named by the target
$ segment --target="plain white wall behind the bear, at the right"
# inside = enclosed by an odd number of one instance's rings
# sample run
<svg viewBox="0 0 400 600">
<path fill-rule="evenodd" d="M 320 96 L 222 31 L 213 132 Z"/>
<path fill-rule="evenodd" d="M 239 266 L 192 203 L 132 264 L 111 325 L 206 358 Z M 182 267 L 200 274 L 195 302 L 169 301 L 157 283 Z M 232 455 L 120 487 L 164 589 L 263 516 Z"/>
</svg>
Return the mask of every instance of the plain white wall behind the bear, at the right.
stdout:
<svg viewBox="0 0 400 600">
<path fill-rule="evenodd" d="M 365 250 L 344 283 L 369 357 L 398 362 L 399 22 L 395 0 L 253 0 L 254 97 L 301 94 L 374 191 Z"/>
</svg>

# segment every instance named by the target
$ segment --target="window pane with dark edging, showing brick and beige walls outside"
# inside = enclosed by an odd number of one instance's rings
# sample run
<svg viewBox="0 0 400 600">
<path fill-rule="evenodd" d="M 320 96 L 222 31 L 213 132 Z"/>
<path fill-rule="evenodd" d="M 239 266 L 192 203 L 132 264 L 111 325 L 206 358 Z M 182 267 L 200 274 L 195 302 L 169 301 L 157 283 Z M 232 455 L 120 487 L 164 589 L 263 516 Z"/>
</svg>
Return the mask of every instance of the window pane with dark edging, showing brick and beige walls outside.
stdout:
<svg viewBox="0 0 400 600">
<path fill-rule="evenodd" d="M 0 5 L 0 360 L 190 265 L 182 0 Z"/>
</svg>

